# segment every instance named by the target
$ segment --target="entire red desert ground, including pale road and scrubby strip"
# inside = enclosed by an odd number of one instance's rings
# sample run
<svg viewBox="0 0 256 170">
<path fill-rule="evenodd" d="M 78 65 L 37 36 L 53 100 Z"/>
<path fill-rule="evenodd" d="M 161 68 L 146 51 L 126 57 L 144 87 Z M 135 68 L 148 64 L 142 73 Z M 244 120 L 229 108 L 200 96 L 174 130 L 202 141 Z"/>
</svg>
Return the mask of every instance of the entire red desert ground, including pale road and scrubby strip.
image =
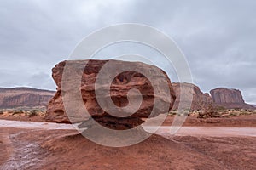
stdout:
<svg viewBox="0 0 256 170">
<path fill-rule="evenodd" d="M 0 169 L 256 169 L 255 114 L 189 116 L 176 135 L 167 116 L 156 134 L 122 148 L 95 144 L 40 114 L 1 117 Z"/>
</svg>

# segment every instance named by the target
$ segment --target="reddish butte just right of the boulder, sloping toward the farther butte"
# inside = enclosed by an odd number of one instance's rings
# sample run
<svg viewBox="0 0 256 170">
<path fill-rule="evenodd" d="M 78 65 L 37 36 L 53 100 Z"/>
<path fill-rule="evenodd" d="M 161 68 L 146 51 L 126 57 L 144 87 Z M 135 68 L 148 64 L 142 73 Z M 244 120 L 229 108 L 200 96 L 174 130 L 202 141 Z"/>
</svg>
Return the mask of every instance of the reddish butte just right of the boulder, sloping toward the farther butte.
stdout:
<svg viewBox="0 0 256 170">
<path fill-rule="evenodd" d="M 177 110 L 178 105 L 183 105 L 183 108 L 190 108 L 189 107 L 189 96 L 192 96 L 192 103 L 191 103 L 191 110 L 200 110 L 205 105 L 212 104 L 212 98 L 209 94 L 201 92 L 201 89 L 195 84 L 191 83 L 180 83 L 174 82 L 172 83 L 172 88 L 175 91 L 177 99 L 172 107 L 172 110 Z M 181 102 L 180 99 L 180 89 L 183 89 L 185 92 L 185 96 L 183 101 Z"/>
</svg>

